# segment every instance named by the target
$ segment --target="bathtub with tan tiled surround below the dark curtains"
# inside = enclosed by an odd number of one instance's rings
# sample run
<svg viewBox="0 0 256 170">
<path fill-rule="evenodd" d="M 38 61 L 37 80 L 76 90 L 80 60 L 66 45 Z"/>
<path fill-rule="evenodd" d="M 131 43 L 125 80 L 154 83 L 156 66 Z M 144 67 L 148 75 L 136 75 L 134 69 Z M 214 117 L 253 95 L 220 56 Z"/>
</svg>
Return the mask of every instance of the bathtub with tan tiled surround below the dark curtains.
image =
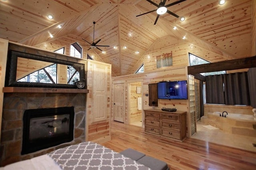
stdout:
<svg viewBox="0 0 256 170">
<path fill-rule="evenodd" d="M 201 122 L 231 134 L 256 137 L 256 130 L 253 130 L 253 124 L 256 123 L 254 121 L 254 115 L 228 113 L 226 117 L 222 117 L 220 114 L 222 115 L 222 112 L 208 113 L 201 117 Z"/>
</svg>

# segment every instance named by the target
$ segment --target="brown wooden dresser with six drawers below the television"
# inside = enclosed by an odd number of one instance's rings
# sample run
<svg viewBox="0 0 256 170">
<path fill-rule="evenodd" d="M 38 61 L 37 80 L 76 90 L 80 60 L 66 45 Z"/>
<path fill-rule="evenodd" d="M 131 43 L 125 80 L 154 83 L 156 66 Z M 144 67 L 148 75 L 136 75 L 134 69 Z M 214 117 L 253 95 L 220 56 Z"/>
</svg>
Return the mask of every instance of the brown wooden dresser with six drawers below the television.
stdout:
<svg viewBox="0 0 256 170">
<path fill-rule="evenodd" d="M 186 138 L 186 112 L 166 112 L 146 109 L 145 132 L 165 138 L 183 141 Z"/>
</svg>

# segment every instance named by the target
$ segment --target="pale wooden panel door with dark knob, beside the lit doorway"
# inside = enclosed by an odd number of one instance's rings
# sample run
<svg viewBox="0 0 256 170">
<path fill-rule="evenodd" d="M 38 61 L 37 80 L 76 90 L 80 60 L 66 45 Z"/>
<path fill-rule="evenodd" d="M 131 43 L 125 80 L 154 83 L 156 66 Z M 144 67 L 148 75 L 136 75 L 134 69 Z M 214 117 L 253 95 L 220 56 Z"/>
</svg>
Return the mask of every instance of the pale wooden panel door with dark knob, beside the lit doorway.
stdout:
<svg viewBox="0 0 256 170">
<path fill-rule="evenodd" d="M 124 123 L 125 119 L 125 84 L 114 84 L 114 121 Z"/>
</svg>

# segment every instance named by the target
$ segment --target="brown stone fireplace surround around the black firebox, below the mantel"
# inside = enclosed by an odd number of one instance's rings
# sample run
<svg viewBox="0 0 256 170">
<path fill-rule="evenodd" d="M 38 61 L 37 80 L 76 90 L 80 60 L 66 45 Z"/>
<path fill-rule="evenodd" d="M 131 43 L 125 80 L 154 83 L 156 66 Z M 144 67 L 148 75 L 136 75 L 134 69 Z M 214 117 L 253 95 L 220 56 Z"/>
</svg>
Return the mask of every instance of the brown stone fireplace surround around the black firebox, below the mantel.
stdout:
<svg viewBox="0 0 256 170">
<path fill-rule="evenodd" d="M 32 149 L 31 153 L 29 153 L 30 151 L 22 152 L 22 140 L 24 136 L 23 117 L 26 110 L 43 109 L 43 111 L 45 111 L 44 109 L 59 107 L 72 107 L 74 110 L 74 119 L 70 119 L 70 121 L 74 122 L 73 139 L 71 139 L 71 141 L 65 139 L 61 144 L 58 143 L 56 146 L 39 148 L 38 151 Z M 33 115 L 33 113 L 31 115 Z M 61 120 L 63 119 L 62 121 L 67 121 L 65 117 L 67 117 L 67 114 L 59 118 Z M 53 125 L 49 120 L 47 121 L 47 127 L 49 126 L 49 129 L 52 128 L 52 130 L 54 130 L 54 126 L 61 123 L 60 121 L 56 121 Z M 4 93 L 0 165 L 5 166 L 13 162 L 46 154 L 58 148 L 84 142 L 86 130 L 85 122 L 86 93 Z M 30 145 L 28 145 L 28 148 L 30 148 L 29 146 Z"/>
</svg>

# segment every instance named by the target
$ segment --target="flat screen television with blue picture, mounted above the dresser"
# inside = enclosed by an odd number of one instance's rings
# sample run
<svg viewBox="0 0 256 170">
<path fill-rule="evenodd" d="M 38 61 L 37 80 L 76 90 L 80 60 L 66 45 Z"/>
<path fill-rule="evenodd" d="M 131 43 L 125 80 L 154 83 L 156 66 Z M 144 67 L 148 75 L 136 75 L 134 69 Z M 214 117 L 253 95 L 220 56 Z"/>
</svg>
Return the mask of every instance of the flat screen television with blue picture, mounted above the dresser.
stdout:
<svg viewBox="0 0 256 170">
<path fill-rule="evenodd" d="M 157 83 L 158 99 L 188 99 L 187 81 L 165 81 Z"/>
</svg>

